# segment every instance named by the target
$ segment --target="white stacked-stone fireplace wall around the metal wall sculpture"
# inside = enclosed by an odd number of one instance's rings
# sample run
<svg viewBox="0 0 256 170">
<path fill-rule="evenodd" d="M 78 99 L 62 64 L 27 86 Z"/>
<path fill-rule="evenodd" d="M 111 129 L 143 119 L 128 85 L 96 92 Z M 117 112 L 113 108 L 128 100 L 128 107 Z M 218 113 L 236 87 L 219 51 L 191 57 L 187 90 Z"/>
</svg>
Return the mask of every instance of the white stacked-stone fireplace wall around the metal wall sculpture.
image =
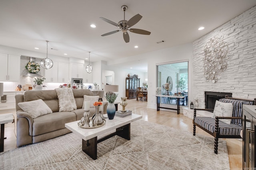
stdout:
<svg viewBox="0 0 256 170">
<path fill-rule="evenodd" d="M 213 37 L 228 45 L 228 66 L 218 82 L 206 82 L 202 55 Z M 193 96 L 205 108 L 204 92 L 229 92 L 237 98 L 256 98 L 256 6 L 193 42 Z"/>
</svg>

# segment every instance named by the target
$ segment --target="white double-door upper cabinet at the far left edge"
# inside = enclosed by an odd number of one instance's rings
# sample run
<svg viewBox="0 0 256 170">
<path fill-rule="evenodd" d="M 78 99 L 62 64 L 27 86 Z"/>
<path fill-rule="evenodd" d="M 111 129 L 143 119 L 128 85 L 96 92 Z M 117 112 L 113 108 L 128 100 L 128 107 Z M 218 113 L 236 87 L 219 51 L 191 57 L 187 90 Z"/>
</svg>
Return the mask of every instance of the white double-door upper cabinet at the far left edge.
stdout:
<svg viewBox="0 0 256 170">
<path fill-rule="evenodd" d="M 0 81 L 20 81 L 20 55 L 0 53 Z"/>
</svg>

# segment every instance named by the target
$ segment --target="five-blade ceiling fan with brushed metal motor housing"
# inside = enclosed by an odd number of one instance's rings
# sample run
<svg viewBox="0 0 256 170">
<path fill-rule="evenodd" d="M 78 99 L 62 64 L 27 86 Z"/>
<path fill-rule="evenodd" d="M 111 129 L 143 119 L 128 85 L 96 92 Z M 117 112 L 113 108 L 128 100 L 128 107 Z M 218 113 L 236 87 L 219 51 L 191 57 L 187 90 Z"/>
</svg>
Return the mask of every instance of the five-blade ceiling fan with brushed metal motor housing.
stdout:
<svg viewBox="0 0 256 170">
<path fill-rule="evenodd" d="M 117 33 L 119 31 L 123 32 L 123 37 L 124 37 L 124 41 L 126 43 L 129 43 L 130 41 L 130 37 L 128 34 L 128 30 L 132 33 L 137 33 L 137 34 L 143 34 L 143 35 L 150 35 L 151 32 L 146 31 L 144 29 L 136 29 L 136 28 L 131 28 L 133 25 L 135 25 L 136 23 L 138 23 L 138 21 L 140 21 L 140 19 L 142 18 L 142 16 L 140 14 L 137 14 L 135 16 L 133 16 L 129 21 L 125 20 L 125 11 L 128 9 L 128 7 L 126 5 L 123 5 L 122 10 L 124 11 L 124 20 L 119 21 L 118 23 L 115 23 L 113 21 L 110 21 L 106 18 L 100 17 L 100 19 L 102 19 L 103 21 L 106 21 L 114 26 L 117 26 L 120 28 L 120 30 L 116 30 L 116 31 L 111 31 L 109 33 L 105 33 L 102 34 L 101 36 L 106 36 L 106 35 L 110 35 L 113 33 Z"/>
</svg>

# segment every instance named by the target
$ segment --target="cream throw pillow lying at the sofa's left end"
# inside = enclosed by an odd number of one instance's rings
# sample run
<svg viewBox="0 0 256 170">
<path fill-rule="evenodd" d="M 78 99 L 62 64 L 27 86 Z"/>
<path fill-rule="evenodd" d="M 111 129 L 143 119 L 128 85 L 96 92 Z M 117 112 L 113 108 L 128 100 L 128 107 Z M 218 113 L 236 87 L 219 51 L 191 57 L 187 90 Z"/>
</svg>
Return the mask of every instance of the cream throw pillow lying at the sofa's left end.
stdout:
<svg viewBox="0 0 256 170">
<path fill-rule="evenodd" d="M 26 112 L 28 112 L 34 119 L 38 116 L 46 115 L 52 113 L 50 107 L 48 107 L 42 99 L 33 100 L 29 102 L 18 103 L 18 106 Z"/>
</svg>

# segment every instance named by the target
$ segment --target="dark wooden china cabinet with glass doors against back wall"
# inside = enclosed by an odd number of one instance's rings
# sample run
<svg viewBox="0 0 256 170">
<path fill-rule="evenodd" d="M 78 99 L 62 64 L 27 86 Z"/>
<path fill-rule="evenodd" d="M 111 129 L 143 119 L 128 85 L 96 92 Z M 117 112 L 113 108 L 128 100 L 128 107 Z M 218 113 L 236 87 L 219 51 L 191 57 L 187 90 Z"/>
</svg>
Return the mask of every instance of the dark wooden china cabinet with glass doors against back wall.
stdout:
<svg viewBox="0 0 256 170">
<path fill-rule="evenodd" d="M 126 77 L 126 97 L 127 99 L 136 98 L 136 89 L 140 87 L 140 78 L 138 75 Z"/>
</svg>

